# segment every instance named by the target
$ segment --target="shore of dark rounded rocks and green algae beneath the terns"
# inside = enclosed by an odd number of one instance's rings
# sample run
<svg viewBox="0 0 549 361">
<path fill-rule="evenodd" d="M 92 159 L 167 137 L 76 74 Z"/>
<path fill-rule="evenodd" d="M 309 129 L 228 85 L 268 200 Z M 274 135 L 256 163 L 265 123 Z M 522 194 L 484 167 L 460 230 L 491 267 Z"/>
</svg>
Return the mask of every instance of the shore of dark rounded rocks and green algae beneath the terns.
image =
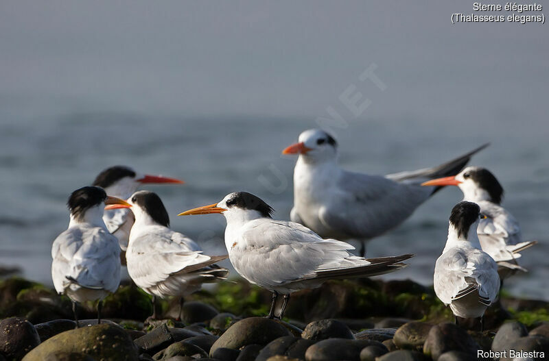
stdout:
<svg viewBox="0 0 549 361">
<path fill-rule="evenodd" d="M 454 325 L 432 288 L 411 281 L 330 281 L 292 295 L 283 321 L 266 319 L 270 293 L 223 282 L 187 299 L 163 301 L 126 284 L 108 297 L 101 325 L 80 307 L 19 277 L 0 281 L 0 361 L 4 360 L 545 360 L 549 303 L 502 295 L 484 316 Z"/>
</svg>

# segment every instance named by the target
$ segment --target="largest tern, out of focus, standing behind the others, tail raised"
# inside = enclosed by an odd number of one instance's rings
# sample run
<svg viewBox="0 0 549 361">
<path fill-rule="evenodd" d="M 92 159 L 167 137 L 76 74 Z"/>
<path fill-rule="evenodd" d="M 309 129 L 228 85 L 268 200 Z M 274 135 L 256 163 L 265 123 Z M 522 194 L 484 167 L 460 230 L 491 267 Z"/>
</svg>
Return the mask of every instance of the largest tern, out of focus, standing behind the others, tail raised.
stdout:
<svg viewBox="0 0 549 361">
<path fill-rule="evenodd" d="M 362 256 L 365 240 L 397 227 L 436 192 L 422 188 L 422 182 L 456 174 L 471 155 L 487 147 L 433 168 L 383 176 L 341 169 L 337 142 L 323 130 L 306 130 L 298 141 L 282 151 L 299 154 L 290 218 L 325 238 L 362 240 Z"/>
</svg>

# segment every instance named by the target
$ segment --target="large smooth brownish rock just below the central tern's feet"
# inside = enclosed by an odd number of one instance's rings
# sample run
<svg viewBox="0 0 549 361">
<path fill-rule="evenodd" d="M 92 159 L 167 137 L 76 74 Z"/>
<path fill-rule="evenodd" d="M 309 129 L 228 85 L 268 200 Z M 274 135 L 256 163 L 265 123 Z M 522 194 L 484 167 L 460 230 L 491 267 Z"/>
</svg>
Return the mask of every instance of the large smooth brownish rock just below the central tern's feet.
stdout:
<svg viewBox="0 0 549 361">
<path fill-rule="evenodd" d="M 229 327 L 212 345 L 210 356 L 219 347 L 240 349 L 252 344 L 267 345 L 281 336 L 290 336 L 290 332 L 280 323 L 264 317 L 249 317 Z"/>
</svg>

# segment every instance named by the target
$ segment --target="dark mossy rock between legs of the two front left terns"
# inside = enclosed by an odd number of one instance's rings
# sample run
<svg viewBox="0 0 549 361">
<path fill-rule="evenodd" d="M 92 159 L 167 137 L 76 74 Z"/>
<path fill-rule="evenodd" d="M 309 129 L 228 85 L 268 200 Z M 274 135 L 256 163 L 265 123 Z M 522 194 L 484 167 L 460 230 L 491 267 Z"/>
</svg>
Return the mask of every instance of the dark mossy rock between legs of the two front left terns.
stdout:
<svg viewBox="0 0 549 361">
<path fill-rule="evenodd" d="M 144 320 L 152 314 L 151 296 L 135 284 L 122 286 L 103 301 L 103 316 L 130 320 Z"/>
</svg>

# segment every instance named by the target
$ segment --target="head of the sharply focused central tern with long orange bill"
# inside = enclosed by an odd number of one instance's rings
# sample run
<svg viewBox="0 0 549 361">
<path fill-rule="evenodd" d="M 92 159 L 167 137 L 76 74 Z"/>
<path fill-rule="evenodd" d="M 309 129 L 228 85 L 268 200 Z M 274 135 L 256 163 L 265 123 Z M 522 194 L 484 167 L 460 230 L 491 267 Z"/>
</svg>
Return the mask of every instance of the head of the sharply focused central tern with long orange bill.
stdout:
<svg viewBox="0 0 549 361">
<path fill-rule="evenodd" d="M 187 210 L 178 215 L 222 213 L 227 219 L 237 215 L 244 216 L 244 219 L 253 219 L 272 218 L 272 212 L 272 207 L 259 197 L 248 192 L 232 192 L 219 203 Z"/>
</svg>

